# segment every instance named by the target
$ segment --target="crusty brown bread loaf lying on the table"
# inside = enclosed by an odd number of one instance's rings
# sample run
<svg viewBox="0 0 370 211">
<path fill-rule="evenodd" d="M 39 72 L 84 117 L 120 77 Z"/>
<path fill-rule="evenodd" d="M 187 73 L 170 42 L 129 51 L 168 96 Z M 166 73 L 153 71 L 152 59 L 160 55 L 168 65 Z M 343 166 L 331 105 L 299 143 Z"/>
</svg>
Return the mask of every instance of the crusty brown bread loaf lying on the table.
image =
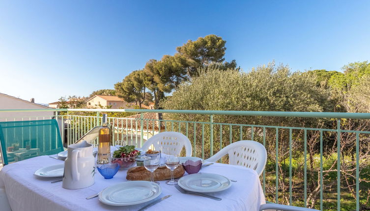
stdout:
<svg viewBox="0 0 370 211">
<path fill-rule="evenodd" d="M 173 170 L 174 178 L 182 177 L 184 173 L 185 170 L 182 167 L 182 165 L 178 165 L 177 168 Z M 153 174 L 155 181 L 171 179 L 171 170 L 168 169 L 166 166 L 158 167 Z M 146 170 L 144 166 L 133 167 L 127 171 L 126 179 L 132 181 L 136 180 L 150 181 L 150 171 Z"/>
</svg>

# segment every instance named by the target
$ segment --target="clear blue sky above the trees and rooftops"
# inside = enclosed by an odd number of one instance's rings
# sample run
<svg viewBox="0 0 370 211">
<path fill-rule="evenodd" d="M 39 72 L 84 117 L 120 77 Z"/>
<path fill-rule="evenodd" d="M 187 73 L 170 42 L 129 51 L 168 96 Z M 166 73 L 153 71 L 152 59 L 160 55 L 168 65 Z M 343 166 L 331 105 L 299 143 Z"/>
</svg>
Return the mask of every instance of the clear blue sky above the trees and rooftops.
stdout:
<svg viewBox="0 0 370 211">
<path fill-rule="evenodd" d="M 245 71 L 273 59 L 340 71 L 370 60 L 370 1 L 3 0 L 0 92 L 86 96 L 208 34 Z"/>
</svg>

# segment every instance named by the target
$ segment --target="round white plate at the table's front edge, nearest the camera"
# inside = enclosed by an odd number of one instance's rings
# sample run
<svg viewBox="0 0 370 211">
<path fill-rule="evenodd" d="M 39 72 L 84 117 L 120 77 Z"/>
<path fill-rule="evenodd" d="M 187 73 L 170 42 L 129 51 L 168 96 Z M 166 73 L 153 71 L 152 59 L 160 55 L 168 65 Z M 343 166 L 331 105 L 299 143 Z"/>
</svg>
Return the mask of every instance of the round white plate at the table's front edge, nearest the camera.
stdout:
<svg viewBox="0 0 370 211">
<path fill-rule="evenodd" d="M 129 181 L 109 186 L 99 193 L 99 201 L 111 206 L 137 205 L 157 198 L 161 186 L 148 181 Z"/>
</svg>

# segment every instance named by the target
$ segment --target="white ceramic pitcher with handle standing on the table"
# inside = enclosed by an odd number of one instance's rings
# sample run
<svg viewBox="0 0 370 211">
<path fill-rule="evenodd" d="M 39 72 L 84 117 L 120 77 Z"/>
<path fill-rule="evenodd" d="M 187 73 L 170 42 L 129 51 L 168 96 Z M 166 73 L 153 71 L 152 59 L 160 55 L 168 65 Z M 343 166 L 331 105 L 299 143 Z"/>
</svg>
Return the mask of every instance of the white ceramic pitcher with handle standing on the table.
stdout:
<svg viewBox="0 0 370 211">
<path fill-rule="evenodd" d="M 80 189 L 95 182 L 95 158 L 92 145 L 83 141 L 68 146 L 68 156 L 64 161 L 63 188 Z"/>
</svg>

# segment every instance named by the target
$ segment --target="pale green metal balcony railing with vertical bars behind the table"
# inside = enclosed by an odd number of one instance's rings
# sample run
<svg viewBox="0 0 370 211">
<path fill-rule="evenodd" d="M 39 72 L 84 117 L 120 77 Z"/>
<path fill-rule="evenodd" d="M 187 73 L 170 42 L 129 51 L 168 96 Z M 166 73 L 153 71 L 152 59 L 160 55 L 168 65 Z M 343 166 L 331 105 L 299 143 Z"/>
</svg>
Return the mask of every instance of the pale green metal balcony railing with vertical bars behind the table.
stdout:
<svg viewBox="0 0 370 211">
<path fill-rule="evenodd" d="M 54 114 L 20 115 L 40 111 Z M 8 112 L 17 115 L 2 115 Z M 100 125 L 103 112 L 109 114 L 113 144 L 125 141 L 140 147 L 158 132 L 176 131 L 189 137 L 193 156 L 209 158 L 238 140 L 262 143 L 268 160 L 261 184 L 268 201 L 338 211 L 359 211 L 360 200 L 367 203 L 370 113 L 0 109 L 0 121 L 57 118 L 69 145 Z M 227 158 L 220 162 L 227 163 Z"/>
</svg>

